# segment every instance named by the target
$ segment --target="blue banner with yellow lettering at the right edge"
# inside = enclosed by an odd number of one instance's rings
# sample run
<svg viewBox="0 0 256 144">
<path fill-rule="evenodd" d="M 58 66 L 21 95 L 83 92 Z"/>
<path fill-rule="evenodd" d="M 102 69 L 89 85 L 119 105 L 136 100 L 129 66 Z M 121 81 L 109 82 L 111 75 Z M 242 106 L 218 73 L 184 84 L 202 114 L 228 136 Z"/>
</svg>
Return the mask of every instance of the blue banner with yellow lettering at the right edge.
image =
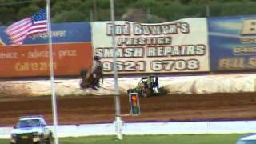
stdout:
<svg viewBox="0 0 256 144">
<path fill-rule="evenodd" d="M 208 18 L 213 71 L 256 69 L 256 16 Z"/>
</svg>

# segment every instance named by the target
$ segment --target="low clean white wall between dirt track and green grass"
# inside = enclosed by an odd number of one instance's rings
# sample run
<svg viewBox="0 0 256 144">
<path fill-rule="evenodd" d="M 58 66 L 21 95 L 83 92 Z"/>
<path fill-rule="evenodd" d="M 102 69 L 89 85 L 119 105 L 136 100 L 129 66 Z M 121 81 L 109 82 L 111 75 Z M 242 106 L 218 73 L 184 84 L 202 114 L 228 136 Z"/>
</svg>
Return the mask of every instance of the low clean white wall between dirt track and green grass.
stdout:
<svg viewBox="0 0 256 144">
<path fill-rule="evenodd" d="M 53 129 L 53 126 L 50 126 Z M 0 127 L 0 138 L 10 138 L 12 127 Z M 123 134 L 246 134 L 255 133 L 255 121 L 134 122 L 123 124 Z M 58 126 L 58 137 L 115 135 L 113 123 Z"/>
</svg>

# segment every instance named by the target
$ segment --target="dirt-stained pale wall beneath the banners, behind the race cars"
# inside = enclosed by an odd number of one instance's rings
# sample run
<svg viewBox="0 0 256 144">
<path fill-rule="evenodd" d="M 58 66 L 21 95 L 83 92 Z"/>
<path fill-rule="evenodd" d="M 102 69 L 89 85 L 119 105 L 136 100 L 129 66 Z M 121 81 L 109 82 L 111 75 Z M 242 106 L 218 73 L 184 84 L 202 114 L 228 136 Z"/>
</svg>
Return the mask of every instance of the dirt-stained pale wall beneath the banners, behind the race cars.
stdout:
<svg viewBox="0 0 256 144">
<path fill-rule="evenodd" d="M 159 77 L 159 86 L 168 94 L 213 94 L 255 91 L 256 74 L 205 75 Z M 134 88 L 141 78 L 118 78 L 118 89 L 122 95 Z M 82 90 L 80 79 L 55 80 L 56 94 L 68 95 L 114 95 L 114 79 L 106 78 L 98 90 Z M 1 96 L 36 97 L 51 94 L 50 80 L 0 82 Z"/>
</svg>

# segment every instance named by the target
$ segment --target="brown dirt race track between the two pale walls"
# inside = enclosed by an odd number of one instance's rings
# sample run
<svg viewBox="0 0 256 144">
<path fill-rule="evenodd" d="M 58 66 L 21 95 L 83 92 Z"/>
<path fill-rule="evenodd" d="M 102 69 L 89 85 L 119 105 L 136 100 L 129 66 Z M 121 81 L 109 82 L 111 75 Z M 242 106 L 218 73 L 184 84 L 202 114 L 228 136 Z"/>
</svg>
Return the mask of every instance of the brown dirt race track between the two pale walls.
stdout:
<svg viewBox="0 0 256 144">
<path fill-rule="evenodd" d="M 173 94 L 140 98 L 141 115 L 129 116 L 128 97 L 120 96 L 125 122 L 256 120 L 256 94 Z M 57 99 L 58 124 L 114 121 L 114 96 L 68 96 Z M 51 98 L 0 98 L 0 126 L 18 117 L 42 114 L 52 124 Z"/>
</svg>

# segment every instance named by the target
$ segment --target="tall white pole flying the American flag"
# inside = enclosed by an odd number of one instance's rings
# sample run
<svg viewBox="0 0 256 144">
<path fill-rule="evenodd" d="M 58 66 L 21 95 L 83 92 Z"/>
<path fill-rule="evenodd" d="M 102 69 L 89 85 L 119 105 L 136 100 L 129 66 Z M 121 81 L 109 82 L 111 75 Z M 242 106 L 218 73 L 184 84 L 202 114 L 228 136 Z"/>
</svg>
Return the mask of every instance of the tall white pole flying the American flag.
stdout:
<svg viewBox="0 0 256 144">
<path fill-rule="evenodd" d="M 54 118 L 54 143 L 58 144 L 58 117 L 57 117 L 57 102 L 55 95 L 55 83 L 54 83 L 54 58 L 53 58 L 53 47 L 51 40 L 51 25 L 50 25 L 50 0 L 46 0 L 46 14 L 47 14 L 47 34 L 48 34 L 48 46 L 49 46 L 49 58 L 50 58 L 50 83 L 51 83 L 51 104 Z"/>
</svg>

